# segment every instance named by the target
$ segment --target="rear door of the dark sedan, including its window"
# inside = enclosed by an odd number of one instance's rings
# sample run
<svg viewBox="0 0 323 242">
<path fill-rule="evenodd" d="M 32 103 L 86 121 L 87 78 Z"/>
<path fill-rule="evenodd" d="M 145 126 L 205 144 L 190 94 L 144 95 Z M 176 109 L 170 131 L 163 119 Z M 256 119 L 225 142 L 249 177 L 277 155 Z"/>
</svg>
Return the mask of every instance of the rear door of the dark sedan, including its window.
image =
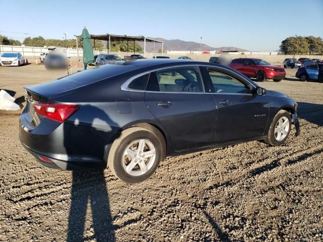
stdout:
<svg viewBox="0 0 323 242">
<path fill-rule="evenodd" d="M 210 93 L 205 93 L 199 67 L 151 72 L 144 99 L 167 130 L 174 151 L 213 144 L 216 103 Z"/>
</svg>

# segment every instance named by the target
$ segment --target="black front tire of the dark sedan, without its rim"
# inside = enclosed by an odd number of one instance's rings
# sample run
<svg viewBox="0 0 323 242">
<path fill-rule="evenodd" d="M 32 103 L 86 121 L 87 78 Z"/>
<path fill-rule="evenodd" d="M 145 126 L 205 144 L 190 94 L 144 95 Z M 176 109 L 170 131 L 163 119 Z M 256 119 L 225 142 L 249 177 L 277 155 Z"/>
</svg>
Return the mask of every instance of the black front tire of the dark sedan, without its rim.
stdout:
<svg viewBox="0 0 323 242">
<path fill-rule="evenodd" d="M 276 125 L 278 123 L 278 120 L 281 119 L 282 117 L 287 117 L 288 120 L 289 120 L 289 129 L 288 129 L 288 133 L 286 135 L 286 137 L 281 140 L 281 141 L 278 141 L 276 138 L 275 138 L 275 128 L 276 128 Z M 276 116 L 274 117 L 273 121 L 272 121 L 272 124 L 271 124 L 271 127 L 269 128 L 268 130 L 268 134 L 267 134 L 267 137 L 264 139 L 264 142 L 268 145 L 272 145 L 272 146 L 277 146 L 277 145 L 281 145 L 283 144 L 288 136 L 289 136 L 289 133 L 291 131 L 291 125 L 292 125 L 292 118 L 291 118 L 291 114 L 288 112 L 288 111 L 285 111 L 285 110 L 280 110 Z"/>
</svg>

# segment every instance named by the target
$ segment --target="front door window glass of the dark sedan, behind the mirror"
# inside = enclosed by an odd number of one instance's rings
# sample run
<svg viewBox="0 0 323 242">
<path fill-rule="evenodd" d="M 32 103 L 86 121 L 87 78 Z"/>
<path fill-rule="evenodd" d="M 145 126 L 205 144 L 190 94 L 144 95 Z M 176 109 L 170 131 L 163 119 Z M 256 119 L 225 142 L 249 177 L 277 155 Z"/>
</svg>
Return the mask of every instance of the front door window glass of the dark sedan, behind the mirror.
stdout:
<svg viewBox="0 0 323 242">
<path fill-rule="evenodd" d="M 212 69 L 208 69 L 208 74 L 211 78 L 214 92 L 216 93 L 251 93 L 245 84 L 237 79 Z"/>
</svg>

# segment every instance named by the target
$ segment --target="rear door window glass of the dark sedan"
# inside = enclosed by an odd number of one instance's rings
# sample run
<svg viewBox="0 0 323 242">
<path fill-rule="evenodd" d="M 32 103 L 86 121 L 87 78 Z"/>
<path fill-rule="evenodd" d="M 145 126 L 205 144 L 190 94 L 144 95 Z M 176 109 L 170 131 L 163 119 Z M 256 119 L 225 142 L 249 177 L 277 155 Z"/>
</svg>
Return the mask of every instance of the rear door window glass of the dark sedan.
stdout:
<svg viewBox="0 0 323 242">
<path fill-rule="evenodd" d="M 204 92 L 198 67 L 180 67 L 152 72 L 147 91 Z"/>
</svg>

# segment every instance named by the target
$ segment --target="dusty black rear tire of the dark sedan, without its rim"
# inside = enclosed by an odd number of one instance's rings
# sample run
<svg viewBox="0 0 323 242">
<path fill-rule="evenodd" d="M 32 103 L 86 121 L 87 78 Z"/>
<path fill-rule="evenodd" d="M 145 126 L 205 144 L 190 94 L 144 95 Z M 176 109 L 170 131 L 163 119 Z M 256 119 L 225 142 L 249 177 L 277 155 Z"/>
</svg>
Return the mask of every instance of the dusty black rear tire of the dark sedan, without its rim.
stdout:
<svg viewBox="0 0 323 242">
<path fill-rule="evenodd" d="M 159 133 L 159 132 L 158 132 Z M 155 134 L 143 128 L 133 127 L 124 130 L 121 135 L 113 142 L 109 157 L 107 158 L 107 165 L 112 173 L 125 183 L 139 183 L 151 176 L 158 165 L 165 157 L 164 137 L 161 134 Z M 126 148 L 134 141 L 145 139 L 150 141 L 155 148 L 155 160 L 151 168 L 142 175 L 130 175 L 123 167 L 123 154 Z M 138 164 L 139 165 L 139 164 Z"/>
</svg>

